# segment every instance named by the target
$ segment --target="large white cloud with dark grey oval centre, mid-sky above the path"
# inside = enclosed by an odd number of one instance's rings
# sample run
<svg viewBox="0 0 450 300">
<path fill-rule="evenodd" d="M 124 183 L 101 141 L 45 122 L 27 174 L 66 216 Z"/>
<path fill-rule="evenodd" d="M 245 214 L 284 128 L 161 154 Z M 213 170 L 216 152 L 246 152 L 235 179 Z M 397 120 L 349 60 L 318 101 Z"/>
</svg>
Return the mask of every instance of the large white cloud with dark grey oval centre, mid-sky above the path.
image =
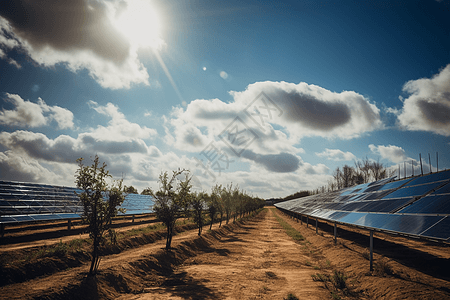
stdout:
<svg viewBox="0 0 450 300">
<path fill-rule="evenodd" d="M 305 136 L 350 139 L 382 127 L 379 109 L 355 92 L 334 93 L 306 83 L 257 82 L 233 101 L 198 99 L 176 107 L 166 137 L 178 149 L 201 151 L 226 130 L 251 132 L 246 147 L 262 155 L 298 153 Z M 236 151 L 239 153 L 240 151 Z"/>
</svg>

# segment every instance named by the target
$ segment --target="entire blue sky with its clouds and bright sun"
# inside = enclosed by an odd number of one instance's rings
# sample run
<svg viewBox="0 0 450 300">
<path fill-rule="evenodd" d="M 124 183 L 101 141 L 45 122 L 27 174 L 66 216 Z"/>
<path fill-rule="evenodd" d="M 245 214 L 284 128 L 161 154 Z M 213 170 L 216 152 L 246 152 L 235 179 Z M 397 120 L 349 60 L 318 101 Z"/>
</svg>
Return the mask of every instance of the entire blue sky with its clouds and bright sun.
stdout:
<svg viewBox="0 0 450 300">
<path fill-rule="evenodd" d="M 1 180 L 98 154 L 139 191 L 180 167 L 268 198 L 450 167 L 447 0 L 45 2 L 0 8 Z"/>
</svg>

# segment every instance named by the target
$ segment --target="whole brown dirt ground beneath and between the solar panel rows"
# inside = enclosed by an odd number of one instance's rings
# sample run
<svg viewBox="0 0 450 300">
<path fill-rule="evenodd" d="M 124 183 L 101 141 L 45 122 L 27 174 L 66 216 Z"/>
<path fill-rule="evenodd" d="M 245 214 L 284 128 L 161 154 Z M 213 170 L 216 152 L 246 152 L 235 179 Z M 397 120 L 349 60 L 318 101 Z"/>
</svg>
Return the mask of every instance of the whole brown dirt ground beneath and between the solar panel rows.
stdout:
<svg viewBox="0 0 450 300">
<path fill-rule="evenodd" d="M 375 233 L 369 272 L 367 231 L 339 226 L 334 245 L 329 224 L 316 234 L 273 207 L 201 237 L 181 224 L 170 251 L 156 223 L 136 227 L 96 277 L 81 234 L 2 245 L 0 299 L 450 299 L 444 244 Z"/>
</svg>

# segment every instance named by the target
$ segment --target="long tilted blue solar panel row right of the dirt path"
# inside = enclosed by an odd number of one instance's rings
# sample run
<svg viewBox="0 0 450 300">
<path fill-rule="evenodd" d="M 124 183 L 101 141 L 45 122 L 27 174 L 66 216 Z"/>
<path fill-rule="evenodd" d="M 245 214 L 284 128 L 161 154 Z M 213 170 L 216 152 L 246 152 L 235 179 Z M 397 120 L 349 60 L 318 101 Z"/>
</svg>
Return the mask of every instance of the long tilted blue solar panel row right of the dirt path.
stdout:
<svg viewBox="0 0 450 300">
<path fill-rule="evenodd" d="M 312 218 L 450 242 L 450 170 L 276 204 Z"/>
</svg>

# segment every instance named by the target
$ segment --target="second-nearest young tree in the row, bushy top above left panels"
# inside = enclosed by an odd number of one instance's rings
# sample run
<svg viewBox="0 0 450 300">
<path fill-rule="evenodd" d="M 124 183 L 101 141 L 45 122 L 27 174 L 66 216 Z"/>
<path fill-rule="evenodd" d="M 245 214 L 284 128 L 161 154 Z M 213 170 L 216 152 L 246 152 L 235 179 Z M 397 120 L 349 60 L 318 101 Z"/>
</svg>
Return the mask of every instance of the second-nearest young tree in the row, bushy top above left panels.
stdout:
<svg viewBox="0 0 450 300">
<path fill-rule="evenodd" d="M 169 179 L 167 172 L 162 173 L 159 176 L 160 187 L 159 190 L 154 193 L 149 189 L 149 193 L 154 198 L 153 210 L 155 211 L 156 218 L 163 222 L 167 227 L 167 240 L 166 249 L 170 249 L 172 244 L 173 230 L 178 218 L 181 217 L 182 203 L 186 197 L 189 197 L 191 185 L 191 177 L 186 174 L 184 181 L 177 179 L 183 173 L 187 173 L 187 170 L 173 171 L 172 177 Z"/>
</svg>

